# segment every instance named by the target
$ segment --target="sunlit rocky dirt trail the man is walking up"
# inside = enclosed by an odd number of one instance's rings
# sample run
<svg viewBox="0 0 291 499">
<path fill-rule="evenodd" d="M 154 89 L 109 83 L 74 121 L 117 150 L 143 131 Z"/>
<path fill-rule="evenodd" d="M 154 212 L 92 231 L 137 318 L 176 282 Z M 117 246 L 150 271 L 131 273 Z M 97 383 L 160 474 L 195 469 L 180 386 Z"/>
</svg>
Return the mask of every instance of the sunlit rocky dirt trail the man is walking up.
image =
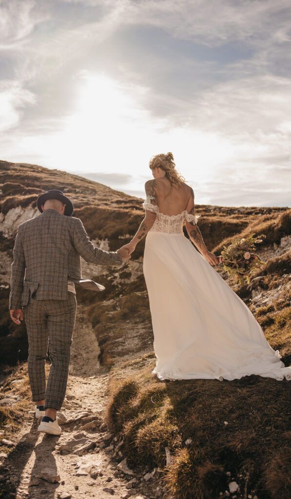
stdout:
<svg viewBox="0 0 291 499">
<path fill-rule="evenodd" d="M 138 328 L 129 322 L 124 329 L 131 335 L 132 331 L 139 334 Z M 149 345 L 148 351 L 151 350 Z M 123 460 L 122 444 L 107 433 L 103 422 L 109 373 L 99 365 L 99 352 L 84 309 L 79 306 L 67 393 L 58 413 L 62 433 L 54 437 L 37 432 L 34 411 L 26 413 L 22 430 L 6 437 L 11 440 L 13 450 L 6 459 L 0 454 L 0 474 L 16 488 L 16 493 L 9 493 L 7 498 L 157 497 L 142 476 L 118 469 Z M 148 361 L 142 361 L 143 365 Z M 118 368 L 114 370 L 118 377 Z"/>
</svg>

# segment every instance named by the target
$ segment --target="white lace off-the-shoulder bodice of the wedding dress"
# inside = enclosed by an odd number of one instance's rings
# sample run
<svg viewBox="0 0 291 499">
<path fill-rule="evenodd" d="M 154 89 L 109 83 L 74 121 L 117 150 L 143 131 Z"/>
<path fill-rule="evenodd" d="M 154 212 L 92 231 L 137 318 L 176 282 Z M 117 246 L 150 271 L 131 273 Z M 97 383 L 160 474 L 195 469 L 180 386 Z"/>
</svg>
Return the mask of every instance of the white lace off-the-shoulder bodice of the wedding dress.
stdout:
<svg viewBox="0 0 291 499">
<path fill-rule="evenodd" d="M 153 227 L 149 232 L 166 232 L 168 234 L 183 234 L 183 224 L 184 220 L 187 222 L 195 222 L 193 225 L 196 225 L 200 215 L 191 215 L 184 210 L 182 213 L 178 215 L 165 215 L 164 213 L 160 213 L 159 207 L 157 205 L 152 205 L 151 200 L 153 197 L 147 197 L 146 201 L 143 203 L 143 208 L 145 210 L 149 210 L 156 214 L 156 220 L 153 224 Z"/>
</svg>

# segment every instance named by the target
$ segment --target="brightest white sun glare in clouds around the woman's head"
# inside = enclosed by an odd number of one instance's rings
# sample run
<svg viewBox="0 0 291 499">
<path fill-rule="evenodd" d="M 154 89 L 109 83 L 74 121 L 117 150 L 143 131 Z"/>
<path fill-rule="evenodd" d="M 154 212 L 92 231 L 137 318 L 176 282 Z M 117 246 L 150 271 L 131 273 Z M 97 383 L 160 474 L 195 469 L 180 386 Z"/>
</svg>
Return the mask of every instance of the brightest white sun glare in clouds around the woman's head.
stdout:
<svg viewBox="0 0 291 499">
<path fill-rule="evenodd" d="M 144 109 L 147 89 L 122 86 L 104 75 L 82 73 L 71 112 L 49 136 L 26 137 L 26 148 L 45 155 L 44 166 L 88 173 L 123 173 L 131 182 L 119 189 L 142 191 L 151 178 L 151 156 L 172 151 L 176 165 L 194 188 L 219 178 L 240 145 L 220 134 L 173 127 Z"/>
</svg>

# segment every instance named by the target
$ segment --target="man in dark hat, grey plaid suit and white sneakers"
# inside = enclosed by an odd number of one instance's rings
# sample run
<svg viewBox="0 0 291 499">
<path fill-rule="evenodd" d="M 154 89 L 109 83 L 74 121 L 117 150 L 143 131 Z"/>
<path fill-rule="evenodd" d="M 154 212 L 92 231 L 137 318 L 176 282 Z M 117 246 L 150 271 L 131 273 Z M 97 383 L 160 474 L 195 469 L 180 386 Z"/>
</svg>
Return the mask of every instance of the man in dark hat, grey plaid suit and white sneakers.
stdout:
<svg viewBox="0 0 291 499">
<path fill-rule="evenodd" d="M 98 265 L 121 265 L 130 256 L 126 249 L 115 252 L 94 247 L 82 222 L 72 217 L 73 205 L 61 191 L 39 195 L 36 204 L 41 215 L 18 227 L 9 309 L 15 324 L 20 324 L 24 309 L 28 376 L 35 415 L 42 417 L 38 431 L 59 435 L 56 411 L 67 386 L 76 315 L 74 282 L 86 289 L 104 289 L 82 279 L 80 255 Z M 45 386 L 48 345 L 51 367 Z"/>
</svg>

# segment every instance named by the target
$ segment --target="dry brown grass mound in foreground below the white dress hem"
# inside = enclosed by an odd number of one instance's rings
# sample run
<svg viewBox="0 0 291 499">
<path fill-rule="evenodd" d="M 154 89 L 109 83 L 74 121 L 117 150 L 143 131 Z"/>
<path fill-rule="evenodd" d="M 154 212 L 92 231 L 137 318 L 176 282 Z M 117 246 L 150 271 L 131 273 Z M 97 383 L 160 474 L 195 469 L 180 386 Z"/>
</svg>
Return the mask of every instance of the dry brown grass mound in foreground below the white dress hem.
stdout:
<svg viewBox="0 0 291 499">
<path fill-rule="evenodd" d="M 131 466 L 162 467 L 170 449 L 174 464 L 164 481 L 176 499 L 219 497 L 227 472 L 245 497 L 255 491 L 259 499 L 290 499 L 290 453 L 281 452 L 290 436 L 290 396 L 287 381 L 259 376 L 159 382 L 146 371 L 118 386 L 112 381 L 107 423 L 124 439 Z"/>
</svg>

